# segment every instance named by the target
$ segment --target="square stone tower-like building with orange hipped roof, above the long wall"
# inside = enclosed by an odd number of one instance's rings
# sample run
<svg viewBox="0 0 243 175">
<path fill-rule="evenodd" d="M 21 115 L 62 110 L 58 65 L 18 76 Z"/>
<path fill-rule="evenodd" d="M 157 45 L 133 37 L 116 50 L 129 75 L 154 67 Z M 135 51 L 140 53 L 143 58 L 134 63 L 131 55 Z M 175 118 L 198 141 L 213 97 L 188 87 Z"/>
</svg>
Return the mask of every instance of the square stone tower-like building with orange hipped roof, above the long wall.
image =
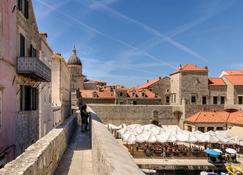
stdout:
<svg viewBox="0 0 243 175">
<path fill-rule="evenodd" d="M 208 68 L 192 64 L 180 66 L 170 74 L 171 104 L 207 104 Z"/>
</svg>

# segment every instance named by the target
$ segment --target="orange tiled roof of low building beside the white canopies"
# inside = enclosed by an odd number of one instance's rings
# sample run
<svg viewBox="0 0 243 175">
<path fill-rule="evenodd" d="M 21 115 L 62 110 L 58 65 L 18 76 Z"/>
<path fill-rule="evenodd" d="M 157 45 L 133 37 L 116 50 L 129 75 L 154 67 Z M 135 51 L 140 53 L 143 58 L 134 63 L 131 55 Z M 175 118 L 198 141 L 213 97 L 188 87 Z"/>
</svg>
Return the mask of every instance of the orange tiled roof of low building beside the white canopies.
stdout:
<svg viewBox="0 0 243 175">
<path fill-rule="evenodd" d="M 229 123 L 243 125 L 243 111 L 199 112 L 186 119 L 188 123 Z"/>
</svg>

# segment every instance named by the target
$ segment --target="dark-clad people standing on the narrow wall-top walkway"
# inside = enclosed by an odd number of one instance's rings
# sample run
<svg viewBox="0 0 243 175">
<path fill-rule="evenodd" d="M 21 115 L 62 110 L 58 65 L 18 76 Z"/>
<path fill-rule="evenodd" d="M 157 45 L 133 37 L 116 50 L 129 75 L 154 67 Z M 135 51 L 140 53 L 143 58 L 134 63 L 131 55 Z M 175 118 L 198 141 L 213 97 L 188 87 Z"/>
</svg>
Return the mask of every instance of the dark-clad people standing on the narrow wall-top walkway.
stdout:
<svg viewBox="0 0 243 175">
<path fill-rule="evenodd" d="M 80 115 L 81 115 L 81 131 L 85 132 L 89 130 L 89 117 L 90 113 L 87 111 L 87 105 L 80 105 Z"/>
</svg>

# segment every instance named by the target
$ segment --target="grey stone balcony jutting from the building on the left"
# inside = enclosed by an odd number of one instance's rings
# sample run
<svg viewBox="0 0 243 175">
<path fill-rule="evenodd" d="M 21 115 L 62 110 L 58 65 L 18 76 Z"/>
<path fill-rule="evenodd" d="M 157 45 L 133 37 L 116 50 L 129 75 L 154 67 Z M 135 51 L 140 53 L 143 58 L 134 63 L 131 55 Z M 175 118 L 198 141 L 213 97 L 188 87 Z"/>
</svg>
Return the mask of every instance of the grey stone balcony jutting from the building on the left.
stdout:
<svg viewBox="0 0 243 175">
<path fill-rule="evenodd" d="M 51 81 L 51 69 L 37 57 L 19 57 L 17 73 L 37 81 Z"/>
</svg>

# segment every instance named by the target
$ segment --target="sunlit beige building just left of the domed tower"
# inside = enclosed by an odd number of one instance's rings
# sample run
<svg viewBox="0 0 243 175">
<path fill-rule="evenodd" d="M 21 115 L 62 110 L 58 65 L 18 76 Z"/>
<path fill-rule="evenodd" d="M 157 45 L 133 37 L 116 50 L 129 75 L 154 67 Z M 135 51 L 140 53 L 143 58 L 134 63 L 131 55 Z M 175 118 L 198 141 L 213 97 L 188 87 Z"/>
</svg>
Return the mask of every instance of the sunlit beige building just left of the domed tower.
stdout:
<svg viewBox="0 0 243 175">
<path fill-rule="evenodd" d="M 59 53 L 52 56 L 52 105 L 54 126 L 61 124 L 71 113 L 70 72 Z"/>
</svg>

